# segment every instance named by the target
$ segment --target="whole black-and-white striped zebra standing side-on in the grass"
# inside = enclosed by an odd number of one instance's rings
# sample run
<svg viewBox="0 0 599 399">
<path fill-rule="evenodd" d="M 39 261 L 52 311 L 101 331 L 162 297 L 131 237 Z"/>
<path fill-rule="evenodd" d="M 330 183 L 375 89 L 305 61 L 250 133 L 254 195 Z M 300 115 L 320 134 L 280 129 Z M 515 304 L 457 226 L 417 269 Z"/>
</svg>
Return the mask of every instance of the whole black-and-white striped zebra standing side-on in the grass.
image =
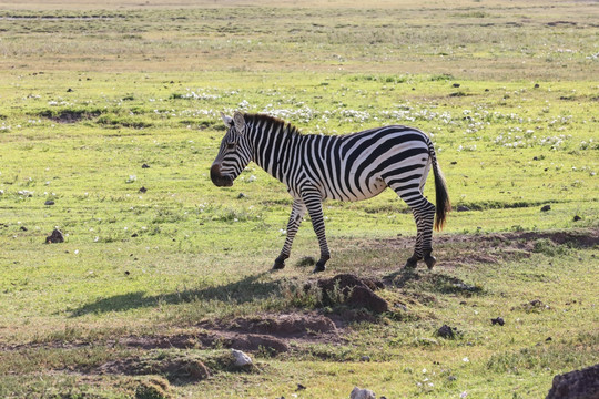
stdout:
<svg viewBox="0 0 599 399">
<path fill-rule="evenodd" d="M 424 259 L 433 268 L 436 263 L 430 255 L 433 224 L 437 231 L 443 228 L 451 204 L 433 142 L 425 133 L 390 125 L 347 135 L 302 134 L 292 124 L 265 114 L 221 115 L 226 133 L 210 168 L 212 182 L 220 187 L 232 186 L 253 161 L 284 183 L 293 197 L 285 243 L 272 269 L 285 267 L 307 211 L 321 249 L 313 273 L 324 272 L 331 254 L 323 201 L 367 200 L 386 187 L 394 190 L 412 208 L 417 226 L 414 254 L 404 267 L 414 268 Z M 435 175 L 436 206 L 423 195 L 430 167 Z"/>
</svg>

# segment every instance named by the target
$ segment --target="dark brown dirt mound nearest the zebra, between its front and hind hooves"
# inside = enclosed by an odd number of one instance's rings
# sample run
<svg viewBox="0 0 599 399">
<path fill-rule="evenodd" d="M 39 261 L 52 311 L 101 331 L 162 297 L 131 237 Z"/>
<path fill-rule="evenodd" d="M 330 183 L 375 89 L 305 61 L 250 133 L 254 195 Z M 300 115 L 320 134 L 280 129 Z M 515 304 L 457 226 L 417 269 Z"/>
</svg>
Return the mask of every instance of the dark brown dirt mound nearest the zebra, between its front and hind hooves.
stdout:
<svg viewBox="0 0 599 399">
<path fill-rule="evenodd" d="M 341 299 L 345 305 L 365 308 L 375 314 L 389 310 L 389 304 L 374 293 L 384 287 L 380 280 L 341 274 L 333 278 L 319 279 L 316 284 L 323 293 L 322 301 L 325 306 L 336 305 Z M 339 296 L 342 298 L 338 298 Z"/>
</svg>

